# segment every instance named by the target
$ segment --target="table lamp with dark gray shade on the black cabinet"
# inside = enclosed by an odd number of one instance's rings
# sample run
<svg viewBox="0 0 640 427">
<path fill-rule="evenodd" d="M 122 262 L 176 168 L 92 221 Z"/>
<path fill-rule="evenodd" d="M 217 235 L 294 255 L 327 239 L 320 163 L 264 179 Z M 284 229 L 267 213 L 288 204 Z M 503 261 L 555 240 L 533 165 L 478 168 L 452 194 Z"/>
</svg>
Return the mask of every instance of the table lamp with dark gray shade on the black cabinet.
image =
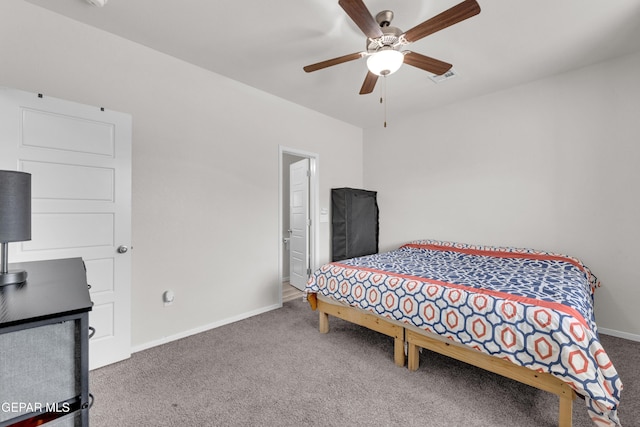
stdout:
<svg viewBox="0 0 640 427">
<path fill-rule="evenodd" d="M 9 271 L 9 242 L 31 240 L 31 174 L 0 170 L 0 286 L 27 280 L 24 270 Z"/>
</svg>

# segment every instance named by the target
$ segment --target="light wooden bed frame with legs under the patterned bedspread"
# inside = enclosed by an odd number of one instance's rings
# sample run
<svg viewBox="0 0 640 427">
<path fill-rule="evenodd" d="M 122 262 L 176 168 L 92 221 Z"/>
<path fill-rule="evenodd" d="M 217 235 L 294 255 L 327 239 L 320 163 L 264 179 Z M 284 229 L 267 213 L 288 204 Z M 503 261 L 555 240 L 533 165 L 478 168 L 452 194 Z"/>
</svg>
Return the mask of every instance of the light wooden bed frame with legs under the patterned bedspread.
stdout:
<svg viewBox="0 0 640 427">
<path fill-rule="evenodd" d="M 571 427 L 573 401 L 576 398 L 576 393 L 567 383 L 549 373 L 537 372 L 524 366 L 518 366 L 507 360 L 481 353 L 453 341 L 446 342 L 442 338 L 434 338 L 437 335 L 429 334 L 426 331 L 417 332 L 411 328 L 403 327 L 390 319 L 365 313 L 355 307 L 325 302 L 322 299 L 318 299 L 316 294 L 308 294 L 307 300 L 311 309 L 319 312 L 319 330 L 323 334 L 329 332 L 329 315 L 332 315 L 392 337 L 394 339 L 394 362 L 397 366 L 404 366 L 405 364 L 404 346 L 406 342 L 408 345 L 407 367 L 410 371 L 418 369 L 420 348 L 426 348 L 477 366 L 485 371 L 548 391 L 557 395 L 560 401 L 558 427 Z"/>
</svg>

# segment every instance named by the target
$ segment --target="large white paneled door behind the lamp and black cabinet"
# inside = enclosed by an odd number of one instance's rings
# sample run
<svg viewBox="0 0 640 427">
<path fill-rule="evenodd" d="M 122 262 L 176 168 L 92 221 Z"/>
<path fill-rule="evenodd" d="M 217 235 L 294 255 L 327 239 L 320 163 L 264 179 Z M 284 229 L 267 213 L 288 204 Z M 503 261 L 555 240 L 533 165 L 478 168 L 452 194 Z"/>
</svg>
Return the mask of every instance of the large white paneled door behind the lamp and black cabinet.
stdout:
<svg viewBox="0 0 640 427">
<path fill-rule="evenodd" d="M 131 116 L 0 88 L 0 169 L 31 174 L 31 241 L 9 244 L 9 262 L 81 257 L 90 368 L 128 358 Z"/>
</svg>

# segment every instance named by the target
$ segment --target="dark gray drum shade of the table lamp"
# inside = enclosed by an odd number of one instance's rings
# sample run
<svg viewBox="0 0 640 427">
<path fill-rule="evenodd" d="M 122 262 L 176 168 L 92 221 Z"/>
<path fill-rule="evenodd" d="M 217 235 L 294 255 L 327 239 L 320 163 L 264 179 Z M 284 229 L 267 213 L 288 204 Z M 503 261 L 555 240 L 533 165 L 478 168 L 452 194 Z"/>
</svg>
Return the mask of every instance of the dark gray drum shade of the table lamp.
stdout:
<svg viewBox="0 0 640 427">
<path fill-rule="evenodd" d="M 0 170 L 0 242 L 31 240 L 31 174 Z"/>
</svg>

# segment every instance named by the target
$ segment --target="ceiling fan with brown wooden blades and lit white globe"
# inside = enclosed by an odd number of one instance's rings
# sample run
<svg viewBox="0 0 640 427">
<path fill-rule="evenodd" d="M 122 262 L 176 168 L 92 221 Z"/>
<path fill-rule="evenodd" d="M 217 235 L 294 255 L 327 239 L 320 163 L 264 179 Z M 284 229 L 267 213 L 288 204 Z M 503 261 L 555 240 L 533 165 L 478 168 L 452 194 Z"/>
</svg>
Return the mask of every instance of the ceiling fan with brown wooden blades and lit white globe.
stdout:
<svg viewBox="0 0 640 427">
<path fill-rule="evenodd" d="M 396 72 L 403 63 L 436 75 L 441 75 L 449 71 L 452 65 L 447 62 L 410 50 L 401 51 L 400 49 L 405 45 L 418 41 L 423 37 L 480 13 L 480 6 L 476 0 L 465 0 L 433 18 L 416 25 L 409 31 L 402 32 L 400 29 L 391 26 L 393 12 L 390 10 L 383 10 L 378 13 L 374 19 L 362 0 L 339 0 L 338 4 L 367 36 L 366 52 L 339 56 L 307 65 L 303 69 L 307 73 L 310 73 L 366 56 L 368 57 L 368 72 L 360 89 L 360 95 L 371 93 L 379 76 L 387 76 Z"/>
</svg>

